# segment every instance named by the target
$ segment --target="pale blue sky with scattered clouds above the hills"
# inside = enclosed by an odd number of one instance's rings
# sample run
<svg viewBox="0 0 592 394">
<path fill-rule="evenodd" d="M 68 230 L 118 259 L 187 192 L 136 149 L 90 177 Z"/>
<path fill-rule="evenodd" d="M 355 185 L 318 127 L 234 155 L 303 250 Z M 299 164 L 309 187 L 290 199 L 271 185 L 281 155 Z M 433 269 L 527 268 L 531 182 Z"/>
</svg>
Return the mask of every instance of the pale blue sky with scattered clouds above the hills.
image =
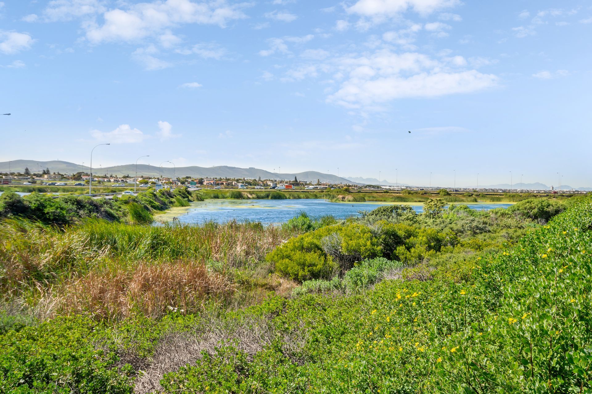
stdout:
<svg viewBox="0 0 592 394">
<path fill-rule="evenodd" d="M 0 161 L 590 186 L 591 37 L 584 0 L 3 0 Z"/>
</svg>

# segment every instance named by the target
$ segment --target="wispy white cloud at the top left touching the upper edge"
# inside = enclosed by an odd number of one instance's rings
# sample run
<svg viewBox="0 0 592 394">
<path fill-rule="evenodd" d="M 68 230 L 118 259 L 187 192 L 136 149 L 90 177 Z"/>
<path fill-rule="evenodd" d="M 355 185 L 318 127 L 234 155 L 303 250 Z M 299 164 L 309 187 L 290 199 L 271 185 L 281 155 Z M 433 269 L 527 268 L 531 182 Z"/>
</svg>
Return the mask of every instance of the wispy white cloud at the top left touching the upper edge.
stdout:
<svg viewBox="0 0 592 394">
<path fill-rule="evenodd" d="M 126 3 L 123 3 L 126 4 Z M 195 3 L 166 0 L 128 5 L 127 9 L 104 12 L 102 25 L 86 22 L 86 39 L 92 44 L 110 41 L 135 42 L 159 35 L 181 24 L 213 24 L 226 27 L 229 21 L 247 16 L 242 8 L 249 4 L 229 5 L 226 0 Z"/>
</svg>

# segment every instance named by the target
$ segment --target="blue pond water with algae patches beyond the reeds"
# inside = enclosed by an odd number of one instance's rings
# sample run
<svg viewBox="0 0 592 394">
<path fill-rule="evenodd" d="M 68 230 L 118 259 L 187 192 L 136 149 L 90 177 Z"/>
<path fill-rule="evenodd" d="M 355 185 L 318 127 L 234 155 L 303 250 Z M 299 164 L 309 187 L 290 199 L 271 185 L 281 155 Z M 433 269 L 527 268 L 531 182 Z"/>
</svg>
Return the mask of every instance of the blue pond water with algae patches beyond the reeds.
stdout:
<svg viewBox="0 0 592 394">
<path fill-rule="evenodd" d="M 391 205 L 385 203 L 331 203 L 322 199 L 298 199 L 298 200 L 206 200 L 191 203 L 186 213 L 179 213 L 180 223 L 225 223 L 230 220 L 239 222 L 282 223 L 287 222 L 301 211 L 311 217 L 332 215 L 337 219 L 346 219 L 350 216 L 359 216 L 358 211 L 371 211 L 375 208 Z M 466 204 L 475 210 L 490 210 L 494 208 L 507 208 L 511 204 Z M 419 204 L 410 206 L 417 213 L 423 211 Z"/>
</svg>

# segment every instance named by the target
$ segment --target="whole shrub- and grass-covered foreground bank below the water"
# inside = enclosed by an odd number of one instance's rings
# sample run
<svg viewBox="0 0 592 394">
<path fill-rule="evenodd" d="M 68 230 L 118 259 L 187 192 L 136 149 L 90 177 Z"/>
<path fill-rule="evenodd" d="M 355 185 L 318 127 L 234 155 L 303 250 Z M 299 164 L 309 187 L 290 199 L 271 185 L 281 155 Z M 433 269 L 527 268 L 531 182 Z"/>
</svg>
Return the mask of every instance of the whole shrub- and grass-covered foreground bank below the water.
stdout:
<svg viewBox="0 0 592 394">
<path fill-rule="evenodd" d="M 0 390 L 589 392 L 592 197 L 569 202 L 276 227 L 4 220 L 3 278 L 53 268 L 2 288 Z M 300 244 L 332 269 L 313 276 Z M 309 276 L 292 291 L 282 264 Z"/>
</svg>

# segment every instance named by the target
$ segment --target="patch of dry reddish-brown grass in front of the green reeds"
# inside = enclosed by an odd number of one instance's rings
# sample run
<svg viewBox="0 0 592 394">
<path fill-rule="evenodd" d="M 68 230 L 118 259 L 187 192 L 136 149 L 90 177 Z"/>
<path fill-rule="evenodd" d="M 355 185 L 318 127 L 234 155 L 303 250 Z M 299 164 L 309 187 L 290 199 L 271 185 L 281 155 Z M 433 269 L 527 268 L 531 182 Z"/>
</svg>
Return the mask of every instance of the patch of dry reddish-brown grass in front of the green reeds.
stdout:
<svg viewBox="0 0 592 394">
<path fill-rule="evenodd" d="M 66 284 L 59 310 L 89 312 L 99 319 L 119 319 L 141 313 L 159 317 L 170 310 L 191 313 L 205 302 L 224 302 L 235 286 L 221 273 L 208 272 L 203 263 L 140 263 L 128 269 L 91 271 Z"/>
</svg>

